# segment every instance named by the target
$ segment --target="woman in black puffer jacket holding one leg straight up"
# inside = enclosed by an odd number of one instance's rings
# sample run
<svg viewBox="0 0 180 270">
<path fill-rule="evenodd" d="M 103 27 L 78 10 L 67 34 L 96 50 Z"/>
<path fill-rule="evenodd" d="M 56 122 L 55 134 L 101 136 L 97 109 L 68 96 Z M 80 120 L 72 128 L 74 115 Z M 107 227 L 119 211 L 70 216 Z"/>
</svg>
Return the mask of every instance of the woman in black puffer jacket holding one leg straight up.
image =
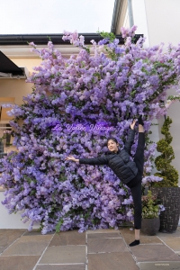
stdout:
<svg viewBox="0 0 180 270">
<path fill-rule="evenodd" d="M 134 142 L 135 130 L 134 126 L 136 120 L 130 124 L 130 132 L 128 139 L 123 149 L 119 149 L 117 139 L 109 138 L 107 140 L 107 147 L 109 152 L 104 157 L 94 158 L 79 158 L 76 159 L 73 156 L 68 156 L 65 160 L 73 160 L 79 162 L 79 164 L 88 165 L 107 165 L 112 168 L 112 171 L 117 175 L 123 184 L 126 184 L 130 188 L 132 199 L 134 202 L 134 228 L 135 228 L 135 240 L 130 243 L 130 247 L 139 245 L 139 230 L 141 229 L 141 179 L 144 166 L 144 145 L 145 135 L 143 128 L 143 121 L 141 115 L 139 116 L 139 140 L 134 156 L 134 160 L 130 160 L 130 149 Z"/>
</svg>

